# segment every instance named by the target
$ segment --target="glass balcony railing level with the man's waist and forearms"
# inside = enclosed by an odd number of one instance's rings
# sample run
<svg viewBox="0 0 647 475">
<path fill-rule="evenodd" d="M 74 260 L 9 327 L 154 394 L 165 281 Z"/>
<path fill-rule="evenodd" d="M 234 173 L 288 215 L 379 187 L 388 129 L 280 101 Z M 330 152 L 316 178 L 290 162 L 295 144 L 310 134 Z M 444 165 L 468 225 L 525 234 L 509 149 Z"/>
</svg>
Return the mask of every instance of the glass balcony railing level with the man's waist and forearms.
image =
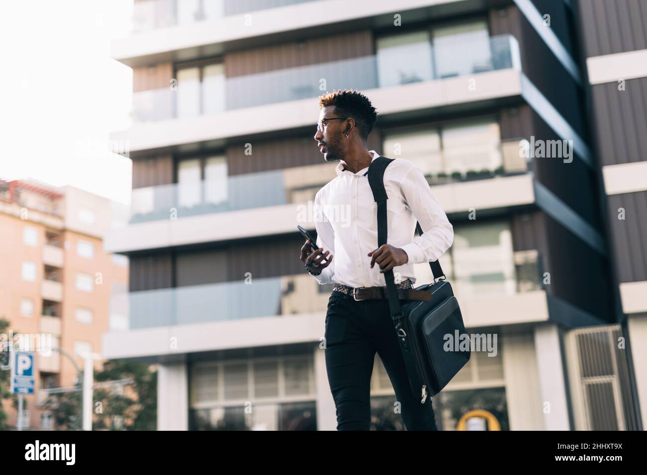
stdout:
<svg viewBox="0 0 647 475">
<path fill-rule="evenodd" d="M 536 251 L 512 252 L 505 246 L 462 249 L 443 258 L 443 270 L 458 299 L 510 296 L 541 290 Z M 431 282 L 420 266 L 416 286 Z M 289 275 L 245 282 L 223 282 L 145 290 L 128 294 L 128 328 L 151 328 L 325 311 L 331 286 L 311 276 Z"/>
</svg>

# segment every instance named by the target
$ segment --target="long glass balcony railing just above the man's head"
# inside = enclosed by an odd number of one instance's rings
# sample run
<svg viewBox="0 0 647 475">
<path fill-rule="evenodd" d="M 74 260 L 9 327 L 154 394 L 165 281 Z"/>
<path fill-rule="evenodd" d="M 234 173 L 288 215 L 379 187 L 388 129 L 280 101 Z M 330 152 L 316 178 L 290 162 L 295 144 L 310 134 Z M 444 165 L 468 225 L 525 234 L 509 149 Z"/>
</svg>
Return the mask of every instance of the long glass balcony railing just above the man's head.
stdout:
<svg viewBox="0 0 647 475">
<path fill-rule="evenodd" d="M 472 47 L 473 43 L 473 48 Z M 375 89 L 414 82 L 433 81 L 465 74 L 477 74 L 501 69 L 521 69 L 519 47 L 510 35 L 493 36 L 489 39 L 489 56 L 483 59 L 480 52 L 483 41 L 457 41 L 454 45 L 437 48 L 433 58 L 442 56 L 460 58 L 455 68 L 443 64 L 434 66 L 425 73 L 415 76 L 400 76 L 399 79 L 382 78 L 378 74 L 380 59 L 377 55 L 362 58 L 343 59 L 258 74 L 247 74 L 222 81 L 192 84 L 200 89 L 199 94 L 181 98 L 182 83 L 174 89 L 154 89 L 133 94 L 133 120 L 155 121 L 184 117 L 186 114 L 213 114 L 243 107 L 254 107 L 270 103 L 295 101 L 320 96 L 325 90 L 334 89 Z M 455 48 L 455 51 L 454 51 Z M 441 50 L 441 51 L 440 51 Z M 465 51 L 474 50 L 472 58 L 465 57 Z M 440 54 L 442 53 L 442 54 Z M 428 58 L 407 58 L 406 61 L 424 61 Z M 454 72 L 448 73 L 447 70 Z M 444 71 L 444 72 L 443 72 Z M 442 73 L 441 73 L 442 72 Z M 224 84 L 224 87 L 223 87 Z M 323 87 L 323 89 L 322 89 Z M 182 100 L 182 104 L 178 102 Z M 182 107 L 180 107 L 182 105 Z M 186 112 L 191 111 L 191 112 Z"/>
</svg>

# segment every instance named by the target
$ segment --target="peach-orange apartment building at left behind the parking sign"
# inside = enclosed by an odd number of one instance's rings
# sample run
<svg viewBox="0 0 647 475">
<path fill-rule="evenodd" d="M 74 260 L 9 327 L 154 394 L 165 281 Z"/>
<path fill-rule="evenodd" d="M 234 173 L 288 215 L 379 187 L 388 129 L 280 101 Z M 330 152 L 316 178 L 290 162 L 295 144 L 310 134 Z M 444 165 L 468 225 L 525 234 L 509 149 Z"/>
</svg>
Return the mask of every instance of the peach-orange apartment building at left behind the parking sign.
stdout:
<svg viewBox="0 0 647 475">
<path fill-rule="evenodd" d="M 127 290 L 128 260 L 103 248 L 118 211 L 75 187 L 0 180 L 0 318 L 10 322 L 8 332 L 34 342 L 27 350 L 37 350 L 23 428 L 55 428 L 52 412 L 40 407 L 41 390 L 73 386 L 80 355 L 101 354 L 102 335 L 123 326 L 126 312 L 110 305 L 113 293 Z M 10 403 L 4 409 L 16 427 L 16 410 Z"/>
</svg>

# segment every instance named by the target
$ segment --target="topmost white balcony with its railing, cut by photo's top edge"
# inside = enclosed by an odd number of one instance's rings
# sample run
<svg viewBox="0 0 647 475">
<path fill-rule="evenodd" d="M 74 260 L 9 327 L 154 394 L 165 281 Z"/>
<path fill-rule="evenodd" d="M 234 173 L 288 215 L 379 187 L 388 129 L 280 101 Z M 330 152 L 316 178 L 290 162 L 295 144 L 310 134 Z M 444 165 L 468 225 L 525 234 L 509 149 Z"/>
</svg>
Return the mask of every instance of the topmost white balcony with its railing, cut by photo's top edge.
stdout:
<svg viewBox="0 0 647 475">
<path fill-rule="evenodd" d="M 175 3 L 181 8 L 171 6 Z M 393 14 L 420 21 L 483 13 L 482 0 L 387 0 L 347 2 L 344 0 L 217 0 L 137 1 L 133 10 L 133 34 L 115 39 L 111 55 L 128 66 L 167 61 L 192 61 L 234 50 L 256 48 L 275 41 L 298 41 L 314 30 L 344 31 L 384 25 Z M 487 0 L 485 5 L 501 3 Z M 322 9 L 325 15 L 322 15 Z M 252 21 L 246 15 L 250 12 Z M 334 30 L 334 31 L 333 31 Z"/>
</svg>

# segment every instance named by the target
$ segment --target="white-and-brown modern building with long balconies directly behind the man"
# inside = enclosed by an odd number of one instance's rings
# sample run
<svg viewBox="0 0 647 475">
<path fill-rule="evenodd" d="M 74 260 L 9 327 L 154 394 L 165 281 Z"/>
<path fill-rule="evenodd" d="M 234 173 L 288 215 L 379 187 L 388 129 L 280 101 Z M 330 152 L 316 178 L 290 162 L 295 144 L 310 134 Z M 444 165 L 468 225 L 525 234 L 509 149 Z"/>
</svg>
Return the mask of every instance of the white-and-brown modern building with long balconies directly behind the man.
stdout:
<svg viewBox="0 0 647 475">
<path fill-rule="evenodd" d="M 320 340 L 331 286 L 299 260 L 335 178 L 318 96 L 358 89 L 369 149 L 424 171 L 454 225 L 441 264 L 469 333 L 497 335 L 434 398 L 511 430 L 635 428 L 607 276 L 586 76 L 568 1 L 135 1 L 126 330 L 159 364 L 158 427 L 334 430 Z M 417 265 L 417 282 L 430 282 Z M 602 363 L 601 363 L 602 362 Z M 595 373 L 604 366 L 604 375 Z M 593 373 L 592 373 L 593 372 Z M 375 428 L 402 428 L 376 356 Z"/>
</svg>

